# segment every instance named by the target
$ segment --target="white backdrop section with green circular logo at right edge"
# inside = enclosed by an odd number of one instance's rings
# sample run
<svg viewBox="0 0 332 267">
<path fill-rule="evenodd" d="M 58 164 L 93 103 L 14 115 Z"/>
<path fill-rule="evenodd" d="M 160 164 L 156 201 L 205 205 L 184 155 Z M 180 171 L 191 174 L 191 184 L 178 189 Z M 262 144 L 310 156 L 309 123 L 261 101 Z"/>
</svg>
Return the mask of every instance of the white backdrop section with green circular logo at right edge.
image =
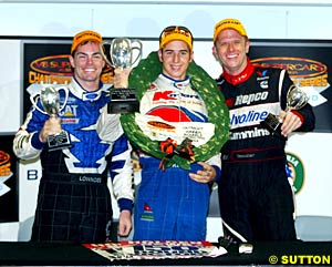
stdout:
<svg viewBox="0 0 332 267">
<path fill-rule="evenodd" d="M 295 193 L 297 215 L 332 216 L 331 151 L 331 134 L 292 134 L 288 140 L 288 176 Z"/>
</svg>

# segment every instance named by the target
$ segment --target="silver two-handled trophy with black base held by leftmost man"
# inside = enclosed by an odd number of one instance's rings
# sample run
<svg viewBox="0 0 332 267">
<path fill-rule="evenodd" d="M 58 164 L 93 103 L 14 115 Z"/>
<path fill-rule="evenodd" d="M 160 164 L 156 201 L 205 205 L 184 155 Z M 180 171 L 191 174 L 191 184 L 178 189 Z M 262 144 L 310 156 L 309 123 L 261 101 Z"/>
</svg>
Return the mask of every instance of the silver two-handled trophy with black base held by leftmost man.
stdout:
<svg viewBox="0 0 332 267">
<path fill-rule="evenodd" d="M 59 91 L 61 90 L 63 90 L 65 93 L 65 99 L 62 105 L 60 104 L 60 93 L 59 93 Z M 65 103 L 68 102 L 68 96 L 69 96 L 68 88 L 65 86 L 54 88 L 51 84 L 49 84 L 43 86 L 40 93 L 31 95 L 30 100 L 33 106 L 41 113 L 46 114 L 50 117 L 56 117 L 59 112 L 63 110 Z M 43 110 L 38 106 L 37 104 L 38 100 L 40 100 Z M 62 130 L 60 133 L 55 135 L 49 135 L 48 145 L 49 145 L 49 151 L 63 150 L 72 146 L 69 137 L 69 133 L 64 130 Z"/>
</svg>

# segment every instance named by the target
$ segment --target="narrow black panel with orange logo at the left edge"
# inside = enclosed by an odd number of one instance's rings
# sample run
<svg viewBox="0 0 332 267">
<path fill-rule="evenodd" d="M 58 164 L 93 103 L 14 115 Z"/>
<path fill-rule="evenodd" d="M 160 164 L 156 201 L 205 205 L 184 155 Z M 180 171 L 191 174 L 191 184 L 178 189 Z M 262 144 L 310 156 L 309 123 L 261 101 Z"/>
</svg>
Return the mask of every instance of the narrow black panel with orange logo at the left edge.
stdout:
<svg viewBox="0 0 332 267">
<path fill-rule="evenodd" d="M 18 222 L 17 157 L 13 135 L 0 135 L 0 222 Z"/>
</svg>

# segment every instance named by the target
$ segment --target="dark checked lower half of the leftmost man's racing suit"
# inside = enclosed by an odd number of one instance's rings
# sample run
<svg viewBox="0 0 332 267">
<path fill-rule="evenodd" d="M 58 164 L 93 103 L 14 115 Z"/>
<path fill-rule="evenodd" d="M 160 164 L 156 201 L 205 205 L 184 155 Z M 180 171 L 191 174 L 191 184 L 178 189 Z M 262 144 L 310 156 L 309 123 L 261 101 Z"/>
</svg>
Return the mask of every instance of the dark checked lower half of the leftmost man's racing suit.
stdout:
<svg viewBox="0 0 332 267">
<path fill-rule="evenodd" d="M 106 242 L 112 219 L 106 184 L 41 181 L 39 191 L 31 240 Z"/>
</svg>

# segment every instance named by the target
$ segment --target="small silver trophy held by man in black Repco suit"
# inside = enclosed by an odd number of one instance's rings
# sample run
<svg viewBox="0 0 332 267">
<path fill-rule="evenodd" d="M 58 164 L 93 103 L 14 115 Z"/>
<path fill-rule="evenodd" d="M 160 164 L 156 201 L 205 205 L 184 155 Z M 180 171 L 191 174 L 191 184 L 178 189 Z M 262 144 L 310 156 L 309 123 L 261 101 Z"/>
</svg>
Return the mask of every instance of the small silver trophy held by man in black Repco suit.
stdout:
<svg viewBox="0 0 332 267">
<path fill-rule="evenodd" d="M 308 95 L 301 89 L 292 85 L 287 93 L 287 103 L 284 111 L 289 112 L 292 110 L 300 110 L 308 103 Z M 272 135 L 286 140 L 286 137 L 281 135 L 282 120 L 278 115 L 269 113 L 267 117 L 260 122 L 260 124 L 269 130 Z"/>
</svg>

